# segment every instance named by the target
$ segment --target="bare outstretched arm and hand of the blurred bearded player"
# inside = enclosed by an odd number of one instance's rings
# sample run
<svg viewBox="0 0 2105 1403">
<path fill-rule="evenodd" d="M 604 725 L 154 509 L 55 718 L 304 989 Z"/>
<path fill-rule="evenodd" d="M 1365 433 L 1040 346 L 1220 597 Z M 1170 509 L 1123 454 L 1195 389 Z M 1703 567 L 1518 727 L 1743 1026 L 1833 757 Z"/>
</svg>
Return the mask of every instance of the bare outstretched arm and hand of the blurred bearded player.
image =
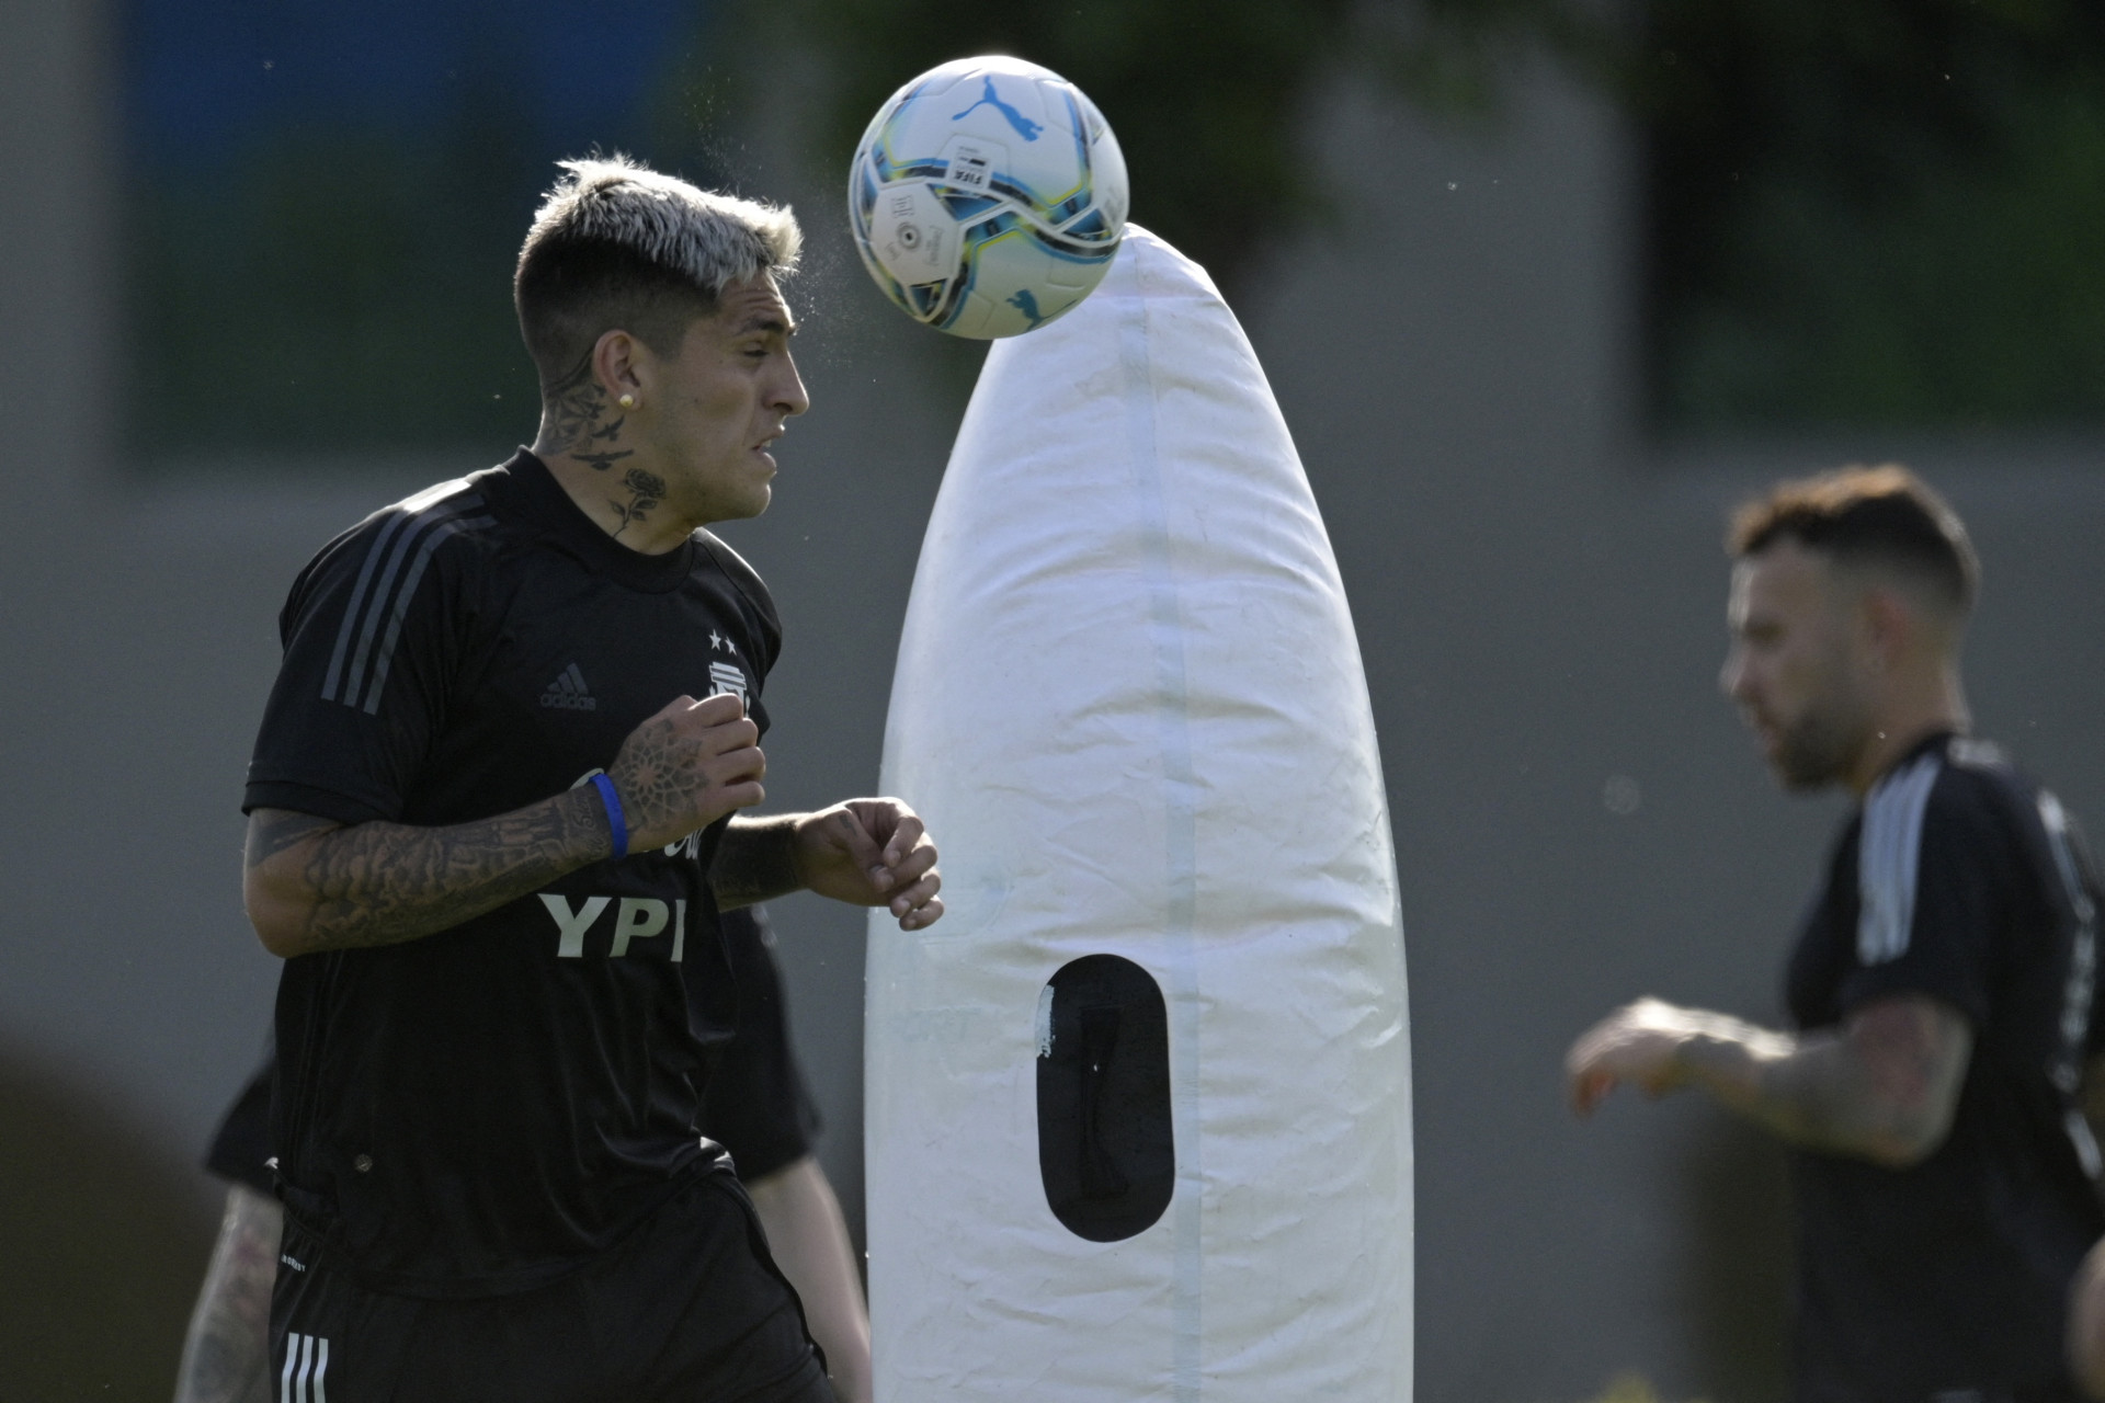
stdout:
<svg viewBox="0 0 2105 1403">
<path fill-rule="evenodd" d="M 1579 1037 L 1564 1071 L 1579 1115 L 1619 1081 L 1648 1096 L 1695 1085 L 1791 1144 L 1899 1170 L 1943 1144 L 1970 1056 L 1966 1016 L 1918 993 L 1800 1035 L 1638 999 Z"/>
</svg>

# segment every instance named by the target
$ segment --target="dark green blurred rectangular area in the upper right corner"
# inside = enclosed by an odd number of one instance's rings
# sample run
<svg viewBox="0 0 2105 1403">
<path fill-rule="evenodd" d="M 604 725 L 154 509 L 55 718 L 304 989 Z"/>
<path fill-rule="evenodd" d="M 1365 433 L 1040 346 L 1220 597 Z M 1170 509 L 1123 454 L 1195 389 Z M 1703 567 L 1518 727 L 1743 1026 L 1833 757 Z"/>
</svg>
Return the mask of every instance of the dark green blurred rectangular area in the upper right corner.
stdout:
<svg viewBox="0 0 2105 1403">
<path fill-rule="evenodd" d="M 1646 0 L 1667 427 L 2105 416 L 2105 6 Z"/>
</svg>

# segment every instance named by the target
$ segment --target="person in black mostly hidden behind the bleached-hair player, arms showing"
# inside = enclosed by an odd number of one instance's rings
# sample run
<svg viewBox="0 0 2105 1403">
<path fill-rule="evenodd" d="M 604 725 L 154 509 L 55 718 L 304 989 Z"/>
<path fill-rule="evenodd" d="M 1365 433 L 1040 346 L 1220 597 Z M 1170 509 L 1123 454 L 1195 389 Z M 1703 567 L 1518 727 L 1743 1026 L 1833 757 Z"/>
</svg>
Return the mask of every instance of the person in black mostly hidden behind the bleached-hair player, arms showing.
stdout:
<svg viewBox="0 0 2105 1403">
<path fill-rule="evenodd" d="M 724 913 L 739 1033 L 709 1075 L 701 1134 L 737 1163 L 775 1262 L 804 1300 L 840 1403 L 869 1403 L 869 1313 L 840 1201 L 813 1157 L 819 1109 L 789 1043 L 764 907 Z M 269 1298 L 282 1216 L 269 1182 L 272 1064 L 248 1081 L 206 1167 L 229 1182 L 219 1245 L 183 1342 L 175 1403 L 269 1403 Z"/>
</svg>

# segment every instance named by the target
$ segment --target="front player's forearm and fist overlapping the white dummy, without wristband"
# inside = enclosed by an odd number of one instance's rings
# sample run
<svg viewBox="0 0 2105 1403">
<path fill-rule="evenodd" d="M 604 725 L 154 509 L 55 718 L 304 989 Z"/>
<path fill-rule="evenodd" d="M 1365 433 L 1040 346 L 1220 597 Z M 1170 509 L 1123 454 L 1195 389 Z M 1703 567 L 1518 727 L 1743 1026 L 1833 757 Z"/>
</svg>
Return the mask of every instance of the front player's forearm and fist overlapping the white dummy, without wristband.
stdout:
<svg viewBox="0 0 2105 1403">
<path fill-rule="evenodd" d="M 935 843 L 899 799 L 848 799 L 817 814 L 733 818 L 716 850 L 709 886 L 726 911 L 789 892 L 817 892 L 857 907 L 884 907 L 901 930 L 943 915 Z"/>
</svg>

